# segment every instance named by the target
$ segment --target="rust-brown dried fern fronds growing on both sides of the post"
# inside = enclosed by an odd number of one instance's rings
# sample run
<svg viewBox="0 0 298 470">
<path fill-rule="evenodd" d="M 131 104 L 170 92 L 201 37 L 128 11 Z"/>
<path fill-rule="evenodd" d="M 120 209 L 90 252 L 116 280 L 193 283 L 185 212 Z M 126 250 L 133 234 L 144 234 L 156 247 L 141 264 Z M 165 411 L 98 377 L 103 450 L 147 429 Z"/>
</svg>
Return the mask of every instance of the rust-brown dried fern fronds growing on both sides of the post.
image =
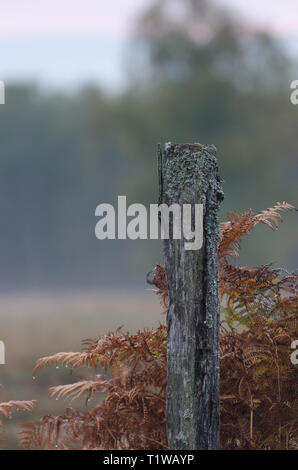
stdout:
<svg viewBox="0 0 298 470">
<path fill-rule="evenodd" d="M 298 447 L 298 377 L 290 362 L 297 339 L 297 275 L 270 266 L 236 267 L 240 240 L 258 223 L 276 228 L 286 203 L 254 215 L 231 214 L 221 224 L 220 291 L 225 320 L 221 329 L 221 447 L 223 449 L 294 449 Z M 153 279 L 167 309 L 165 269 Z M 84 342 L 81 353 L 40 359 L 52 364 L 101 368 L 103 376 L 53 387 L 50 396 L 94 400 L 90 411 L 68 408 L 64 415 L 27 423 L 25 448 L 165 449 L 166 326 L 136 335 L 120 330 Z M 101 395 L 100 395 L 101 397 Z"/>
</svg>

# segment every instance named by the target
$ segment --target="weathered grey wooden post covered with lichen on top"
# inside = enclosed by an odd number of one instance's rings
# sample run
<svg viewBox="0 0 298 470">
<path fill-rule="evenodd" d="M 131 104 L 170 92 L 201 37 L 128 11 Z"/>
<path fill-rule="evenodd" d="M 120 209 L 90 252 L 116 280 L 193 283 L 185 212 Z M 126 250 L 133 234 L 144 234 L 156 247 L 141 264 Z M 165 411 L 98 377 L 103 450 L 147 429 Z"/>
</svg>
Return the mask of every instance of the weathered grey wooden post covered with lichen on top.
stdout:
<svg viewBox="0 0 298 470">
<path fill-rule="evenodd" d="M 158 151 L 159 203 L 203 204 L 204 239 L 186 251 L 164 240 L 169 291 L 167 433 L 170 449 L 219 448 L 219 242 L 223 199 L 216 148 L 165 144 Z M 171 232 L 170 232 L 171 233 Z"/>
</svg>

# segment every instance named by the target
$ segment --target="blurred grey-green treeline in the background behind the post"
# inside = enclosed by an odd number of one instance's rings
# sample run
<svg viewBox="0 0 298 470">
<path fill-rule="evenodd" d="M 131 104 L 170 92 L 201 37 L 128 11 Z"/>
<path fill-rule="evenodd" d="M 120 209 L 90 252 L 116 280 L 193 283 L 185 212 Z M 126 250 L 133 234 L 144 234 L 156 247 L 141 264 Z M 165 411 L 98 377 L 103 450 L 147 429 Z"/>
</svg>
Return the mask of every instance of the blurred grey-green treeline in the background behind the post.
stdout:
<svg viewBox="0 0 298 470">
<path fill-rule="evenodd" d="M 234 20 L 205 2 L 185 1 L 179 19 L 168 8 L 158 2 L 140 18 L 121 95 L 91 86 L 73 94 L 6 87 L 2 290 L 141 283 L 160 261 L 160 242 L 98 241 L 94 211 L 116 204 L 118 195 L 128 203 L 157 201 L 158 142 L 217 146 L 223 214 L 275 201 L 297 205 L 294 64 L 269 36 L 240 34 Z M 267 230 L 258 229 L 247 259 L 294 268 L 294 215 L 276 237 L 267 238 Z"/>
</svg>

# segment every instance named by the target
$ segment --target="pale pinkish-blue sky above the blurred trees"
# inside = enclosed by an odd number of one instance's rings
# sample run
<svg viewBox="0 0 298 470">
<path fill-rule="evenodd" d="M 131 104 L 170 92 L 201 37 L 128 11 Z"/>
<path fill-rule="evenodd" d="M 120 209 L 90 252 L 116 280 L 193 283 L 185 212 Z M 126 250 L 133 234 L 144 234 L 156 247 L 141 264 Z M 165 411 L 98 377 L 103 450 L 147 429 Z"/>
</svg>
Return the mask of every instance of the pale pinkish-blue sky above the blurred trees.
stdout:
<svg viewBox="0 0 298 470">
<path fill-rule="evenodd" d="M 182 0 L 181 0 L 182 1 Z M 296 48 L 295 0 L 216 0 Z M 0 79 L 58 88 L 86 81 L 118 90 L 136 17 L 150 0 L 0 1 Z"/>
</svg>

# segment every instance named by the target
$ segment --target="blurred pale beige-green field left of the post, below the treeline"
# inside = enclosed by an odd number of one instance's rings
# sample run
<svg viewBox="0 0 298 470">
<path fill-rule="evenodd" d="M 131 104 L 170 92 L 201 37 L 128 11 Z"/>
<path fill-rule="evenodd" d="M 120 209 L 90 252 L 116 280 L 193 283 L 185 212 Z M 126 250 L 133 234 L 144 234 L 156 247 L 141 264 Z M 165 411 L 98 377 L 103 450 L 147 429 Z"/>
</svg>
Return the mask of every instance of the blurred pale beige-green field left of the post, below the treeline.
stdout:
<svg viewBox="0 0 298 470">
<path fill-rule="evenodd" d="M 0 339 L 6 348 L 6 365 L 0 366 L 1 401 L 38 402 L 33 413 L 16 413 L 4 420 L 8 449 L 18 449 L 18 423 L 58 414 L 67 406 L 49 400 L 48 387 L 71 383 L 69 369 L 50 367 L 33 380 L 39 357 L 60 351 L 80 350 L 81 340 L 94 338 L 123 325 L 123 331 L 151 328 L 162 320 L 158 298 L 150 289 L 137 292 L 105 291 L 2 295 Z M 77 374 L 88 375 L 86 369 Z M 91 371 L 90 371 L 91 374 Z M 84 400 L 72 406 L 84 408 Z"/>
</svg>

